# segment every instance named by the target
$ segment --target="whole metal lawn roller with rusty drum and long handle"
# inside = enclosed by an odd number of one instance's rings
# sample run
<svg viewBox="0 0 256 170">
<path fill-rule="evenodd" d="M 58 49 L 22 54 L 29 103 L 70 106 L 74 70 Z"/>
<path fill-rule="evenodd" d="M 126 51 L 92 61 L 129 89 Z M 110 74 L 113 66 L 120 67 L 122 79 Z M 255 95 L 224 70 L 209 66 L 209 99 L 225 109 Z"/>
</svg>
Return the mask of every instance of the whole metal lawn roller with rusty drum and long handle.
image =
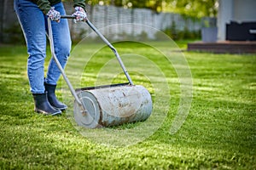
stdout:
<svg viewBox="0 0 256 170">
<path fill-rule="evenodd" d="M 74 19 L 73 15 L 63 15 L 62 19 Z M 48 19 L 49 44 L 55 63 L 61 71 L 61 75 L 67 82 L 74 97 L 73 114 L 75 122 L 81 127 L 111 127 L 128 122 L 142 122 L 148 119 L 152 112 L 152 99 L 148 90 L 141 85 L 135 85 L 131 81 L 125 65 L 113 45 L 102 35 L 95 26 L 86 20 L 90 28 L 101 37 L 119 61 L 119 65 L 125 73 L 128 82 L 103 85 L 96 87 L 77 88 L 74 90 L 69 82 L 64 70 L 57 57 L 53 43 L 51 21 Z"/>
</svg>

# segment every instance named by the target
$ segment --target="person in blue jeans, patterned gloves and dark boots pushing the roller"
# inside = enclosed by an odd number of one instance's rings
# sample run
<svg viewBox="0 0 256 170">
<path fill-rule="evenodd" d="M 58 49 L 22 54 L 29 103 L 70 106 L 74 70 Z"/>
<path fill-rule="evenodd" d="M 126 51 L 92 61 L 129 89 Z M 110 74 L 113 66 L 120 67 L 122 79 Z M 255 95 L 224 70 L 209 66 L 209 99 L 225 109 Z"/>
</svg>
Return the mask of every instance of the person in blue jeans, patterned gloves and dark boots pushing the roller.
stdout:
<svg viewBox="0 0 256 170">
<path fill-rule="evenodd" d="M 76 19 L 74 22 L 84 21 L 84 0 L 74 0 L 73 7 Z M 55 96 L 55 88 L 61 71 L 54 59 L 49 61 L 48 71 L 44 77 L 44 59 L 46 57 L 47 19 L 52 24 L 55 55 L 64 68 L 71 49 L 71 38 L 67 20 L 61 19 L 65 15 L 65 8 L 61 0 L 15 0 L 15 13 L 26 39 L 27 75 L 34 99 L 35 111 L 45 115 L 58 115 L 67 109 Z"/>
</svg>

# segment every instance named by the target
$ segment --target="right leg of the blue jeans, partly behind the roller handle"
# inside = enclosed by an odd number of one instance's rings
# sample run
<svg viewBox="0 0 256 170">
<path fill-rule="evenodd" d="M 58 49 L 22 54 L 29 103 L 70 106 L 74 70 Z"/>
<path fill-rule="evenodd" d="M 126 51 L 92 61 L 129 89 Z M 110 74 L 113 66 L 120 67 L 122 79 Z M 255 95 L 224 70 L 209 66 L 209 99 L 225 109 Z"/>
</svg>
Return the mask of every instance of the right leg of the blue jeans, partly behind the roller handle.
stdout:
<svg viewBox="0 0 256 170">
<path fill-rule="evenodd" d="M 61 15 L 66 14 L 65 8 L 62 3 L 55 4 L 55 10 L 59 11 Z M 61 19 L 61 22 L 59 23 L 51 21 L 51 25 L 55 46 L 55 55 L 60 61 L 62 68 L 64 68 L 67 64 L 67 59 L 71 50 L 71 37 L 68 22 L 67 19 Z M 61 71 L 55 64 L 55 60 L 50 59 L 45 82 L 48 84 L 56 85 L 60 76 Z"/>
</svg>

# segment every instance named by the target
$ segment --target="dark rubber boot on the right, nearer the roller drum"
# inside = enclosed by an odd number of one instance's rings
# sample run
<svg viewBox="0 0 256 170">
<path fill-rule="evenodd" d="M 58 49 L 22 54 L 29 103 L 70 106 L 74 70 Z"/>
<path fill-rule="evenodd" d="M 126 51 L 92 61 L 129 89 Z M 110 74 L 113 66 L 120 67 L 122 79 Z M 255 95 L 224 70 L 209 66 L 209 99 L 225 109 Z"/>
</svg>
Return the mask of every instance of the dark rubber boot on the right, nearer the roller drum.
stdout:
<svg viewBox="0 0 256 170">
<path fill-rule="evenodd" d="M 55 95 L 56 85 L 51 85 L 51 84 L 44 83 L 44 87 L 45 87 L 45 91 L 47 92 L 47 97 L 48 97 L 48 100 L 49 100 L 49 104 L 52 105 L 56 109 L 59 109 L 61 111 L 65 111 L 67 109 L 67 105 L 61 103 L 61 101 L 59 101 L 56 98 L 56 95 Z"/>
</svg>

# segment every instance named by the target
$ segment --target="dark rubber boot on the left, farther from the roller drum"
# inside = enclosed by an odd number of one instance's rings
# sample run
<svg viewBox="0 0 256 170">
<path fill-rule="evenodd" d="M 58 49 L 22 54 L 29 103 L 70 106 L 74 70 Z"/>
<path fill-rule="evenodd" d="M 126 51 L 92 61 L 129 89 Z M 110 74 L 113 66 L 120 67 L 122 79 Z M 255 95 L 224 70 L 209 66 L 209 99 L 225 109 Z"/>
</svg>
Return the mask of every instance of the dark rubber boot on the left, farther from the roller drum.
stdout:
<svg viewBox="0 0 256 170">
<path fill-rule="evenodd" d="M 35 102 L 35 111 L 38 113 L 43 113 L 44 115 L 59 115 L 61 114 L 61 110 L 55 109 L 51 105 L 49 105 L 49 101 L 47 99 L 47 94 L 33 94 L 33 99 Z"/>
</svg>

